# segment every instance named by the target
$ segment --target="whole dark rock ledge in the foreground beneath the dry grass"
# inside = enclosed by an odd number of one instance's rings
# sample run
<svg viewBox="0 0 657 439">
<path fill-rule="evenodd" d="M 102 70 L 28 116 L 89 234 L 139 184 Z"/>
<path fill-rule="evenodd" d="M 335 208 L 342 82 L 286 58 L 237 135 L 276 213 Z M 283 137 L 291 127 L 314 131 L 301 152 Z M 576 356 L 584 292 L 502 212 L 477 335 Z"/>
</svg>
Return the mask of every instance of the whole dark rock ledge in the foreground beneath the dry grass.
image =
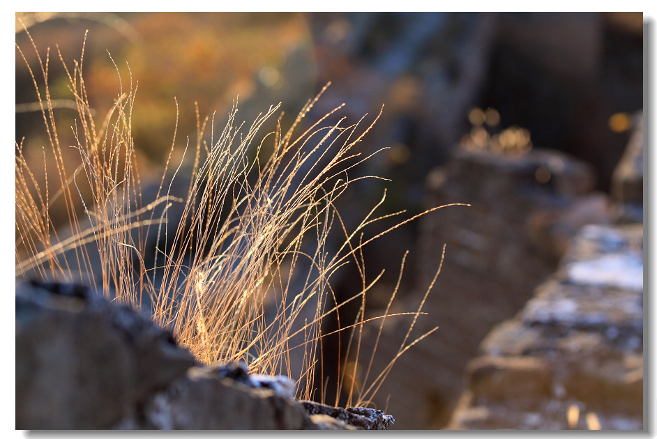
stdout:
<svg viewBox="0 0 657 439">
<path fill-rule="evenodd" d="M 206 367 L 146 316 L 86 286 L 16 288 L 16 428 L 388 429 L 368 408 L 318 415 L 294 382 Z M 347 416 L 345 417 L 345 413 Z"/>
</svg>

